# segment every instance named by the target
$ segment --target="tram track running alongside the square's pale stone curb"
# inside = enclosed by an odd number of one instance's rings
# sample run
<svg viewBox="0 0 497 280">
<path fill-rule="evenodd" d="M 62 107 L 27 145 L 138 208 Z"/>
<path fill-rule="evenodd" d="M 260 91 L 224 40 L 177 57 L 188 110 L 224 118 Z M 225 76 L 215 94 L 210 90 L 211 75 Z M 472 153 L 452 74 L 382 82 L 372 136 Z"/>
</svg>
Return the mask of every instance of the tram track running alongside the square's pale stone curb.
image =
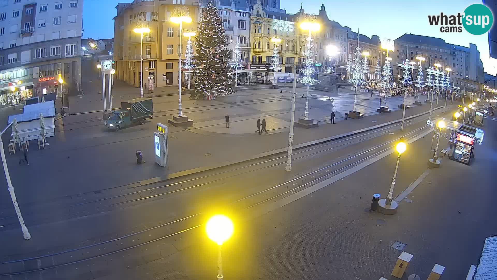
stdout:
<svg viewBox="0 0 497 280">
<path fill-rule="evenodd" d="M 416 124 L 419 123 L 419 122 L 421 122 L 421 121 L 416 122 Z M 413 121 L 407 121 L 406 122 L 406 126 L 411 125 L 411 124 L 413 124 Z M 370 131 L 370 132 L 367 132 L 367 133 L 359 134 L 359 135 L 356 135 L 356 136 L 353 136 L 353 137 L 347 137 L 347 138 L 340 139 L 340 140 L 332 140 L 329 143 L 325 143 L 325 144 L 317 144 L 317 145 L 314 145 L 314 146 L 311 146 L 311 147 L 303 147 L 303 148 L 301 148 L 302 150 L 295 149 L 294 152 L 293 152 L 293 156 L 294 157 L 293 157 L 292 160 L 298 160 L 298 159 L 302 159 L 302 158 L 307 158 L 307 157 L 314 156 L 314 155 L 322 153 L 322 152 L 326 152 L 326 151 L 331 151 L 331 150 L 334 150 L 334 149 L 338 149 L 338 148 L 347 146 L 349 144 L 358 143 L 358 142 L 361 142 L 361 141 L 371 140 L 371 139 L 374 139 L 374 138 L 377 138 L 377 137 L 380 137 L 380 136 L 383 136 L 383 135 L 386 135 L 386 134 L 390 133 L 390 131 L 393 128 L 397 127 L 397 126 L 400 126 L 400 124 L 393 124 L 393 125 L 390 125 L 390 126 L 387 126 L 387 127 L 384 127 L 384 128 L 380 128 L 380 129 L 377 129 L 377 130 L 374 130 L 374 131 Z M 368 137 L 366 137 L 366 136 L 368 136 Z M 338 143 L 341 143 L 341 144 L 338 144 Z M 338 145 L 336 145 L 336 144 L 338 144 Z M 329 146 L 331 146 L 331 147 L 329 147 Z M 326 147 L 328 147 L 328 148 L 326 148 Z M 323 149 L 323 148 L 325 148 L 325 149 Z M 310 151 L 312 151 L 312 152 L 309 153 L 309 154 L 305 154 L 305 153 L 310 152 Z M 303 154 L 303 155 L 295 157 L 295 155 L 299 155 L 299 154 Z M 146 188 L 146 189 L 143 189 L 143 190 L 132 191 L 132 192 L 128 192 L 128 193 L 124 193 L 124 194 L 120 194 L 120 195 L 114 195 L 114 196 L 104 197 L 104 198 L 95 199 L 95 200 L 91 200 L 91 201 L 84 201 L 84 202 L 77 203 L 77 204 L 69 204 L 69 205 L 62 205 L 62 206 L 64 206 L 65 208 L 74 209 L 74 208 L 77 208 L 77 207 L 81 208 L 81 207 L 83 207 L 85 205 L 90 205 L 90 204 L 95 204 L 95 203 L 100 203 L 100 202 L 105 202 L 105 201 L 110 201 L 110 200 L 116 200 L 116 199 L 119 199 L 119 198 L 125 198 L 126 199 L 125 201 L 120 201 L 120 202 L 115 202 L 115 203 L 109 203 L 107 205 L 98 205 L 95 208 L 95 209 L 98 209 L 99 211 L 102 211 L 102 209 L 105 209 L 105 208 L 110 208 L 110 207 L 113 207 L 113 206 L 123 205 L 123 204 L 132 204 L 133 202 L 145 201 L 145 200 L 148 200 L 148 199 L 152 199 L 152 198 L 156 198 L 156 197 L 162 197 L 162 196 L 173 194 L 173 193 L 188 191 L 188 190 L 199 188 L 199 187 L 202 187 L 202 186 L 206 186 L 206 185 L 209 185 L 209 184 L 212 184 L 212 183 L 220 182 L 220 181 L 225 180 L 225 179 L 233 178 L 235 176 L 246 174 L 248 172 L 255 172 L 255 171 L 258 171 L 258 170 L 261 170 L 261 169 L 271 168 L 271 167 L 274 167 L 274 166 L 277 166 L 277 165 L 282 165 L 282 164 L 286 163 L 286 157 L 287 157 L 287 155 L 285 154 L 285 155 L 278 156 L 278 157 L 275 157 L 275 158 L 265 159 L 265 160 L 262 160 L 262 161 L 259 161 L 259 162 L 250 163 L 248 165 L 236 167 L 236 168 L 233 168 L 233 169 L 224 170 L 224 171 L 221 171 L 221 172 L 216 172 L 216 173 L 213 173 L 213 174 L 207 174 L 207 175 L 203 175 L 203 176 L 199 176 L 199 177 L 195 177 L 195 178 L 191 178 L 191 179 L 181 180 L 181 181 L 178 181 L 178 182 L 173 182 L 173 183 L 169 183 L 169 184 L 163 184 L 163 185 L 159 185 L 159 186 L 149 187 L 149 188 Z M 272 162 L 278 161 L 280 159 L 285 159 L 285 160 L 282 161 L 282 162 L 272 163 Z M 270 164 L 270 165 L 265 165 L 265 164 Z M 255 166 L 256 166 L 256 168 L 252 168 L 252 167 L 255 167 Z M 220 178 L 215 178 L 216 176 L 223 175 L 223 174 L 226 174 L 226 173 L 232 173 L 232 172 L 238 171 L 238 170 L 246 170 L 246 171 L 237 172 L 235 174 L 231 174 L 231 175 L 228 175 L 228 176 L 223 176 L 223 177 L 220 177 Z M 191 186 L 183 187 L 183 188 L 178 188 L 178 189 L 174 189 L 174 190 L 167 190 L 166 192 L 161 192 L 161 193 L 157 193 L 157 194 L 154 194 L 154 195 L 144 195 L 144 193 L 146 193 L 146 192 L 155 192 L 157 190 L 162 190 L 164 188 L 170 188 L 170 187 L 173 187 L 173 186 L 178 186 L 178 185 L 181 185 L 181 184 L 190 183 L 190 182 L 193 182 L 193 181 L 196 181 L 196 180 L 199 180 L 199 179 L 205 179 L 205 178 L 214 178 L 214 179 L 206 181 L 206 182 L 202 182 L 202 183 L 199 183 L 199 184 L 194 184 L 194 185 L 191 185 Z M 141 187 L 143 187 L 143 186 L 141 186 Z M 102 189 L 102 190 L 105 190 L 105 189 Z M 91 193 L 91 192 L 87 192 L 87 193 Z M 132 196 L 132 195 L 139 195 L 140 197 L 136 198 L 136 199 L 127 199 L 127 196 Z M 53 206 L 52 203 L 50 203 L 48 205 L 49 205 L 49 207 L 38 208 L 38 209 L 36 209 L 36 211 L 29 211 L 29 207 L 26 207 L 25 205 L 21 205 L 21 207 L 23 207 L 23 209 L 24 209 L 24 218 L 28 219 L 33 214 L 39 215 L 40 211 L 50 211 L 50 210 L 58 211 L 59 210 L 57 207 L 50 207 L 50 206 Z M 87 210 L 82 210 L 82 211 L 78 211 L 78 212 L 73 212 L 71 214 L 66 214 L 65 217 L 74 218 L 75 215 L 77 216 L 77 215 L 82 215 L 82 214 L 87 215 L 88 214 Z M 59 218 L 61 218 L 61 217 L 59 217 Z M 16 225 L 16 223 L 17 223 L 16 219 L 17 219 L 17 216 L 2 217 L 2 218 L 0 218 L 0 223 L 2 223 L 4 226 Z M 8 220 L 11 220 L 11 222 L 9 224 L 5 223 L 5 221 L 8 221 Z"/>
</svg>

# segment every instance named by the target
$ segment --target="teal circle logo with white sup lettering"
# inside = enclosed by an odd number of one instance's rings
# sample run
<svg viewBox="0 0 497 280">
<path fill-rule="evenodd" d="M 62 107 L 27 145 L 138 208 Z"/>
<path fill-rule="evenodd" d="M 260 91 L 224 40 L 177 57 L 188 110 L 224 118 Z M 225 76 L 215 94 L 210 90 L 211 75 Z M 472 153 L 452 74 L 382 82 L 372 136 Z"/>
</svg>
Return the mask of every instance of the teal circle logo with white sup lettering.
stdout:
<svg viewBox="0 0 497 280">
<path fill-rule="evenodd" d="M 473 35 L 486 33 L 493 23 L 492 11 L 484 4 L 472 4 L 464 10 L 464 29 Z"/>
</svg>

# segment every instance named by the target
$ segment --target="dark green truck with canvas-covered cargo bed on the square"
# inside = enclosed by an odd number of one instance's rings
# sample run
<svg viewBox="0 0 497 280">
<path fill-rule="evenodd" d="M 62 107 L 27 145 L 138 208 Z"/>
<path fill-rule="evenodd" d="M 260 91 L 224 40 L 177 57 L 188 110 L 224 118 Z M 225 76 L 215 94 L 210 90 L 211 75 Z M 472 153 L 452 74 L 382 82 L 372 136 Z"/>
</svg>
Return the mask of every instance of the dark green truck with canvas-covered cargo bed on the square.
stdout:
<svg viewBox="0 0 497 280">
<path fill-rule="evenodd" d="M 112 111 L 105 121 L 105 127 L 118 131 L 131 124 L 145 124 L 145 119 L 152 119 L 154 103 L 152 98 L 135 98 L 121 102 L 121 109 Z"/>
</svg>

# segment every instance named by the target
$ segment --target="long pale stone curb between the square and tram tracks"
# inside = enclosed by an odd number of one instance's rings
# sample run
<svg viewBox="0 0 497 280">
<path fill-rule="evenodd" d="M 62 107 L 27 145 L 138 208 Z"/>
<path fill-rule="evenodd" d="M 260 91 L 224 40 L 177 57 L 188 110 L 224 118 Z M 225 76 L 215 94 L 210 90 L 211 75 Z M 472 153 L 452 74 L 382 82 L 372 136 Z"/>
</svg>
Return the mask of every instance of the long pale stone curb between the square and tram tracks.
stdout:
<svg viewBox="0 0 497 280">
<path fill-rule="evenodd" d="M 433 108 L 433 111 L 441 109 L 443 107 L 444 106 L 439 106 L 437 108 Z M 426 112 L 423 112 L 423 113 L 419 113 L 419 114 L 416 114 L 414 116 L 407 117 L 406 120 L 417 118 L 419 116 L 422 116 L 422 115 L 425 115 L 425 114 L 428 114 L 428 113 L 429 113 L 429 111 L 426 111 Z M 320 143 L 324 143 L 324 142 L 329 142 L 329 141 L 332 141 L 332 140 L 338 140 L 338 139 L 342 139 L 342 138 L 345 138 L 345 137 L 354 136 L 356 134 L 360 134 L 360 133 L 363 133 L 363 132 L 368 132 L 368 131 L 376 130 L 376 129 L 379 129 L 379 128 L 382 128 L 382 127 L 386 127 L 386 126 L 389 126 L 389 125 L 392 125 L 392 124 L 395 124 L 395 123 L 400 123 L 400 122 L 402 122 L 402 119 L 391 121 L 391 122 L 380 124 L 380 125 L 376 125 L 376 126 L 372 126 L 372 127 L 368 127 L 368 128 L 364 128 L 364 129 L 360 129 L 360 130 L 355 130 L 355 131 L 352 131 L 352 132 L 342 133 L 342 134 L 339 134 L 339 135 L 335 135 L 335 136 L 331 136 L 331 137 L 327 137 L 327 138 L 323 138 L 323 139 L 318 139 L 318 140 L 314 140 L 314 141 L 310 141 L 310 142 L 301 143 L 301 144 L 293 146 L 293 149 L 299 149 L 299 148 L 303 148 L 303 147 L 307 147 L 307 146 L 312 146 L 312 145 L 316 145 L 316 144 L 320 144 Z M 242 163 L 242 162 L 245 162 L 245 161 L 249 161 L 249 160 L 253 160 L 253 159 L 257 159 L 257 158 L 265 157 L 265 156 L 269 156 L 269 155 L 274 155 L 274 154 L 278 154 L 278 153 L 282 153 L 282 152 L 286 152 L 286 151 L 288 151 L 288 147 L 279 148 L 279 149 L 271 150 L 271 151 L 266 151 L 266 152 L 263 152 L 263 153 L 259 153 L 259 154 L 253 155 L 253 156 L 251 156 L 249 158 L 246 158 L 246 159 L 241 159 L 241 160 L 236 160 L 236 161 L 224 161 L 224 162 L 221 162 L 221 163 L 216 164 L 216 165 L 203 166 L 203 167 L 197 167 L 197 168 L 193 168 L 193 169 L 183 170 L 183 171 L 171 173 L 171 174 L 164 175 L 164 176 L 154 177 L 154 178 L 150 178 L 150 179 L 146 179 L 146 180 L 142 180 L 142 181 L 130 183 L 130 184 L 127 184 L 127 185 L 124 185 L 124 186 L 132 186 L 133 185 L 132 187 L 136 187 L 136 186 L 143 186 L 143 185 L 148 185 L 148 184 L 152 184 L 152 183 L 162 182 L 162 181 L 166 181 L 166 180 L 169 180 L 169 179 L 178 178 L 178 177 L 181 177 L 181 176 L 191 175 L 191 174 L 194 174 L 194 173 L 199 173 L 199 172 L 208 171 L 208 170 L 212 170 L 212 169 L 216 169 L 216 168 L 220 168 L 220 167 L 225 167 L 225 166 L 229 166 L 229 165 L 233 165 L 233 164 L 238 164 L 238 163 Z"/>
</svg>

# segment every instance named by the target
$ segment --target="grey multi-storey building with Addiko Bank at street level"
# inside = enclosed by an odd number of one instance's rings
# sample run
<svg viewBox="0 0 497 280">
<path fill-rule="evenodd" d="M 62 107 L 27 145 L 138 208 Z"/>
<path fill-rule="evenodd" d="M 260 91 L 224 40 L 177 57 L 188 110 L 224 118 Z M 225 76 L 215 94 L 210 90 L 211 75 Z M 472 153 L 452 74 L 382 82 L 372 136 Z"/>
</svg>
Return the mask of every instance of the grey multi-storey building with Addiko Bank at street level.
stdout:
<svg viewBox="0 0 497 280">
<path fill-rule="evenodd" d="M 0 104 L 80 90 L 82 15 L 83 0 L 0 0 Z"/>
</svg>

